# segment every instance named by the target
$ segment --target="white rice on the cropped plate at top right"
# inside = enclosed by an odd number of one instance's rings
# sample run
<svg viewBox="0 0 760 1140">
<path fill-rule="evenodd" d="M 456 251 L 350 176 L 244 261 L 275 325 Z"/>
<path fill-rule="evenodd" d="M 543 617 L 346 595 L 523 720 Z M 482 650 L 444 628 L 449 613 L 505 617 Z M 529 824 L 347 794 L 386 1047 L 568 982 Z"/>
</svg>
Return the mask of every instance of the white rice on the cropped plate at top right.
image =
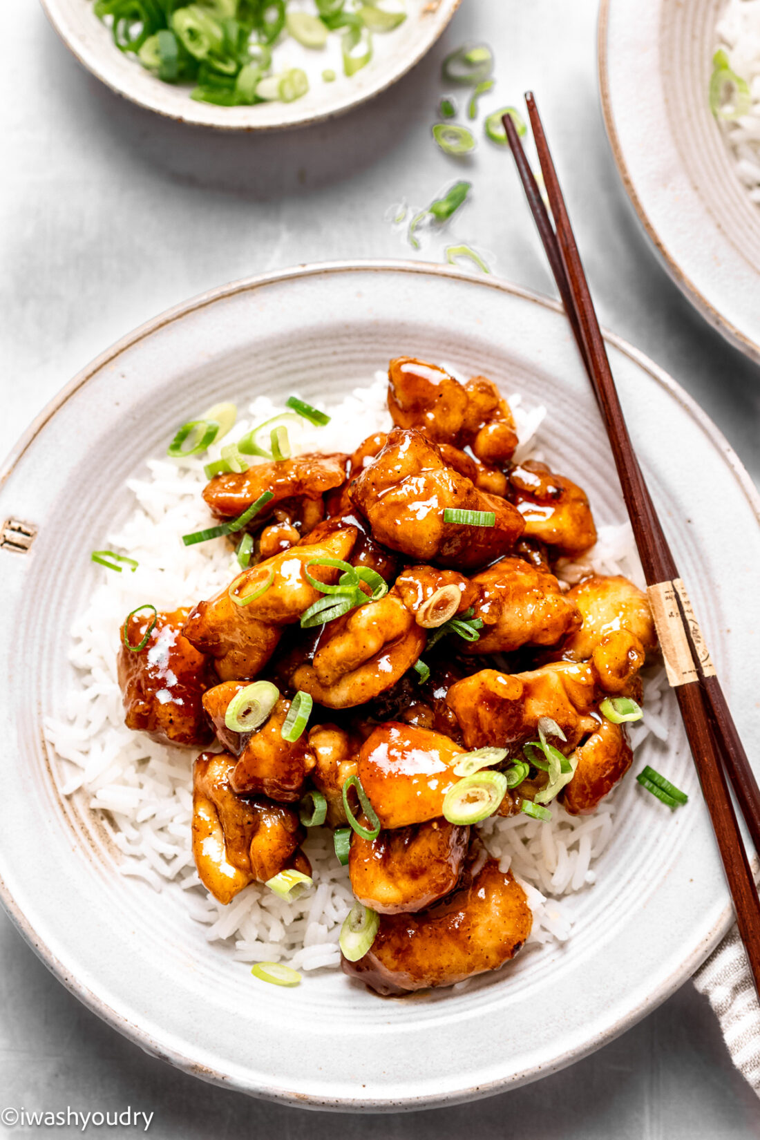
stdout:
<svg viewBox="0 0 760 1140">
<path fill-rule="evenodd" d="M 760 205 L 760 0 L 728 0 L 716 25 L 716 48 L 750 88 L 752 106 L 738 119 L 719 120 L 736 173 Z"/>
</svg>

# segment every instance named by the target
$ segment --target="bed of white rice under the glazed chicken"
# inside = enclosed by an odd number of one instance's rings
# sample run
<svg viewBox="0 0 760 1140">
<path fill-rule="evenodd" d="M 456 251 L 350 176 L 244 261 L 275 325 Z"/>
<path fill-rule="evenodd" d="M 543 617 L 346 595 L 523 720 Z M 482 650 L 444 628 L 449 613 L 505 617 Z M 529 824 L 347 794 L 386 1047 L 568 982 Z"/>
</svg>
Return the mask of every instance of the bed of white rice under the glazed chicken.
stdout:
<svg viewBox="0 0 760 1140">
<path fill-rule="evenodd" d="M 387 378 L 378 373 L 374 383 L 327 408 L 333 417 L 327 426 L 288 424 L 294 450 L 340 451 L 386 430 L 386 392 Z M 539 456 L 533 441 L 546 409 L 525 407 L 520 396 L 509 402 L 521 441 L 517 457 Z M 247 410 L 224 442 L 283 409 L 259 397 Z M 212 448 L 211 457 L 218 458 L 218 448 Z M 336 967 L 337 937 L 353 898 L 348 868 L 335 858 L 332 833 L 313 829 L 304 845 L 314 879 L 308 895 L 286 903 L 253 883 L 222 906 L 207 894 L 193 863 L 195 751 L 155 743 L 124 725 L 116 678 L 124 616 L 148 600 L 158 609 L 193 605 L 226 585 L 237 570 L 223 540 L 182 546 L 181 535 L 209 523 L 201 497 L 204 483 L 203 463 L 194 458 L 148 461 L 146 475 L 129 481 L 134 510 L 103 545 L 137 559 L 139 568 L 133 573 L 96 571 L 98 584 L 72 627 L 71 660 L 77 683 L 57 715 L 46 718 L 46 735 L 59 759 L 64 793 L 84 795 L 90 807 L 103 813 L 123 855 L 122 874 L 142 880 L 145 889 L 178 893 L 187 907 L 188 927 L 190 920 L 201 923 L 207 939 L 226 943 L 240 961 L 287 961 L 301 970 Z M 624 573 L 640 581 L 628 524 L 600 528 L 587 560 L 600 573 Z M 580 570 L 570 565 L 564 575 L 573 580 Z M 645 718 L 630 732 L 634 747 L 649 732 L 664 739 L 659 716 L 664 689 L 662 670 L 647 678 Z M 550 823 L 520 815 L 481 825 L 481 836 L 502 870 L 512 869 L 528 891 L 533 912 L 530 943 L 562 942 L 570 935 L 572 920 L 561 899 L 594 883 L 594 862 L 610 842 L 613 817 L 614 795 L 590 817 L 573 817 L 553 805 Z"/>
</svg>

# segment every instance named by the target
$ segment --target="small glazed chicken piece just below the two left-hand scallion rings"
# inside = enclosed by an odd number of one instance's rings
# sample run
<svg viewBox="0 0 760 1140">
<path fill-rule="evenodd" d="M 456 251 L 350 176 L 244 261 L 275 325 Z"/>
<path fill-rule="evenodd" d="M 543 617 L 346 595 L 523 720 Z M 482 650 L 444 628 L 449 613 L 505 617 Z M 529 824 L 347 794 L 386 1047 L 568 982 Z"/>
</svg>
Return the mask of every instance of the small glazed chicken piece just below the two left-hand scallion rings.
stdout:
<svg viewBox="0 0 760 1140">
<path fill-rule="evenodd" d="M 248 736 L 230 776 L 232 791 L 260 792 L 281 804 L 301 799 L 317 760 L 307 736 L 283 740 L 281 728 L 289 708 L 291 701 L 280 697 L 261 728 Z"/>
</svg>

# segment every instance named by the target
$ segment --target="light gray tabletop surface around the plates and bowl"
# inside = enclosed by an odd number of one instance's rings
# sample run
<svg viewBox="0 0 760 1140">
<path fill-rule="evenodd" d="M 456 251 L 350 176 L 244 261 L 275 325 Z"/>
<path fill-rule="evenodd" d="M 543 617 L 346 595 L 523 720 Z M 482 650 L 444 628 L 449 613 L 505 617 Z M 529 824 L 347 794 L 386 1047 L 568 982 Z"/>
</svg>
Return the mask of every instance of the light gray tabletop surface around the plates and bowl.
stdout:
<svg viewBox="0 0 760 1140">
<path fill-rule="evenodd" d="M 299 262 L 411 255 L 389 209 L 424 205 L 461 169 L 436 152 L 430 127 L 441 58 L 472 39 L 490 42 L 498 62 L 484 106 L 537 92 L 603 323 L 696 397 L 757 478 L 760 369 L 692 311 L 638 229 L 600 119 L 595 0 L 463 0 L 443 41 L 378 100 L 261 138 L 183 128 L 121 100 L 80 68 L 34 0 L 3 0 L 2 28 L 0 453 L 91 357 L 169 306 Z M 466 169 L 473 202 L 446 241 L 467 241 L 502 276 L 554 292 L 510 160 L 481 145 Z M 446 241 L 415 256 L 440 260 Z M 0 946 L 0 1108 L 132 1105 L 155 1112 L 149 1134 L 166 1140 L 760 1137 L 758 1099 L 690 984 L 540 1084 L 459 1108 L 350 1117 L 185 1076 L 80 1005 L 5 915 Z M 34 1134 L 51 1133 L 80 1134 Z"/>
</svg>

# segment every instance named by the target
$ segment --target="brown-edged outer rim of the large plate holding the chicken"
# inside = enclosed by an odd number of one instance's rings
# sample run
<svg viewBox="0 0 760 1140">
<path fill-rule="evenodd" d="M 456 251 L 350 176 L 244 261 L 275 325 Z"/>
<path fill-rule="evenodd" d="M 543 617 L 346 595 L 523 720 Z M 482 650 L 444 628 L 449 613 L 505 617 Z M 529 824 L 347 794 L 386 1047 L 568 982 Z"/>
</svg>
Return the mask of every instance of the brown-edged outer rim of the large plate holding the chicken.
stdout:
<svg viewBox="0 0 760 1140">
<path fill-rule="evenodd" d="M 271 284 L 280 284 L 286 280 L 292 279 L 303 279 L 308 277 L 318 277 L 320 275 L 334 275 L 343 272 L 377 272 L 377 274 L 389 274 L 389 272 L 404 272 L 404 274 L 416 274 L 418 276 L 434 276 L 439 278 L 449 278 L 458 282 L 467 282 L 468 284 L 476 284 L 482 287 L 488 287 L 496 290 L 498 292 L 529 301 L 533 304 L 538 304 L 540 308 L 548 309 L 555 314 L 562 315 L 562 304 L 548 298 L 544 294 L 537 293 L 532 290 L 524 288 L 523 286 L 515 285 L 508 280 L 498 277 L 473 277 L 469 274 L 463 272 L 453 267 L 433 264 L 422 261 L 402 261 L 402 260 L 341 260 L 341 261 L 328 261 L 328 262 L 311 262 L 301 266 L 294 266 L 292 268 L 286 268 L 281 270 L 269 271 L 264 274 L 258 274 L 251 277 L 242 278 L 236 282 L 231 282 L 227 285 L 215 286 L 212 290 L 207 290 L 199 293 L 187 301 L 180 302 L 173 306 L 157 316 L 150 318 L 144 324 L 139 325 L 137 328 L 126 333 L 124 336 L 120 337 L 109 348 L 105 349 L 101 353 L 96 356 L 88 365 L 80 369 L 76 375 L 68 381 L 59 392 L 54 396 L 54 398 L 48 401 L 48 404 L 42 408 L 38 416 L 30 423 L 26 431 L 21 435 L 15 447 L 8 453 L 6 458 L 2 461 L 0 466 L 0 488 L 5 484 L 6 480 L 15 470 L 18 461 L 26 453 L 26 450 L 35 441 L 36 437 L 43 430 L 46 424 L 48 424 L 57 412 L 76 393 L 79 392 L 89 380 L 91 380 L 105 365 L 116 359 L 122 352 L 128 351 L 133 345 L 138 344 L 140 341 L 146 340 L 148 336 L 158 332 L 161 328 L 173 324 L 174 321 L 182 319 L 183 317 L 205 309 L 216 301 L 223 300 L 226 298 L 235 296 L 246 292 L 253 292 L 258 288 L 265 287 Z M 727 462 L 734 478 L 736 479 L 739 489 L 744 494 L 750 507 L 752 508 L 755 519 L 760 522 L 760 492 L 755 489 L 746 469 L 742 464 L 739 457 L 736 455 L 730 443 L 726 440 L 720 430 L 714 425 L 712 420 L 706 415 L 706 413 L 700 407 L 700 405 L 690 397 L 681 386 L 675 381 L 664 369 L 652 361 L 644 352 L 636 349 L 634 345 L 629 344 L 624 339 L 618 336 L 614 333 L 603 329 L 603 335 L 605 342 L 614 345 L 615 349 L 621 351 L 623 355 L 628 356 L 635 364 L 647 372 L 652 378 L 664 388 L 670 396 L 677 400 L 677 402 L 683 407 L 683 409 L 692 416 L 693 420 L 697 422 L 701 429 L 710 438 L 713 445 L 719 449 L 722 457 Z M 150 1054 L 160 1058 L 161 1060 L 172 1064 L 174 1067 L 188 1073 L 193 1076 L 201 1077 L 212 1084 L 220 1085 L 222 1088 L 229 1088 L 229 1078 L 223 1072 L 219 1072 L 206 1066 L 201 1066 L 191 1056 L 187 1054 L 187 1051 L 181 1049 L 167 1047 L 166 1044 L 161 1044 L 156 1041 L 149 1033 L 147 1033 L 142 1027 L 130 1021 L 128 1018 L 123 1017 L 115 1009 L 113 1009 L 104 999 L 90 990 L 87 985 L 79 980 L 76 976 L 66 970 L 60 960 L 51 952 L 47 944 L 41 939 L 30 919 L 26 918 L 19 904 L 16 903 L 13 897 L 9 887 L 6 885 L 2 877 L 0 877 L 0 902 L 8 913 L 9 918 L 15 923 L 16 928 L 19 930 L 22 936 L 35 952 L 38 958 L 48 967 L 48 969 L 58 978 L 58 980 L 77 997 L 88 1009 L 95 1012 L 98 1017 L 105 1020 L 114 1029 L 121 1033 L 123 1036 L 128 1037 L 134 1044 L 138 1044 L 141 1049 L 149 1052 Z M 644 1016 L 655 1009 L 662 1003 L 670 994 L 672 994 L 688 977 L 694 972 L 694 970 L 706 959 L 711 953 L 718 942 L 728 931 L 733 922 L 733 907 L 730 902 L 721 911 L 719 918 L 713 923 L 709 934 L 702 939 L 701 944 L 697 945 L 692 953 L 679 963 L 679 967 L 672 971 L 672 974 L 665 978 L 662 984 L 653 992 L 647 993 L 643 1001 L 630 1009 L 627 1015 L 621 1018 L 614 1026 L 605 1031 L 598 1032 L 588 1041 L 585 1042 L 581 1049 L 577 1047 L 571 1047 L 563 1054 L 555 1058 L 550 1068 L 546 1069 L 546 1074 L 557 1072 L 577 1060 L 581 1060 L 583 1057 L 589 1056 L 600 1045 L 608 1041 L 614 1040 L 620 1036 L 628 1028 L 635 1025 Z M 540 1066 L 539 1066 L 540 1070 Z M 540 1072 L 537 1072 L 536 1066 L 523 1069 L 520 1073 L 510 1074 L 507 1077 L 495 1078 L 484 1084 L 479 1084 L 475 1088 L 468 1090 L 460 1090 L 452 1096 L 441 1097 L 440 1094 L 425 1094 L 420 1098 L 414 1098 L 411 1100 L 404 1101 L 402 1104 L 395 1101 L 391 1102 L 379 1098 L 371 1099 L 353 1099 L 353 1098 L 316 1098 L 310 1094 L 304 1094 L 296 1090 L 285 1091 L 281 1088 L 262 1088 L 254 1091 L 252 1090 L 238 1090 L 244 1091 L 248 1096 L 254 1096 L 258 1099 L 272 1100 L 281 1104 L 288 1104 L 294 1107 L 301 1108 L 317 1108 L 327 1109 L 333 1112 L 346 1112 L 346 1113 L 358 1113 L 358 1112 L 399 1112 L 399 1110 L 416 1110 L 430 1107 L 441 1106 L 443 1104 L 458 1104 L 466 1100 L 472 1100 L 480 1097 L 493 1096 L 502 1091 L 507 1091 L 509 1088 L 515 1088 L 518 1084 L 525 1083 L 529 1080 L 537 1078 L 540 1076 Z"/>
</svg>

